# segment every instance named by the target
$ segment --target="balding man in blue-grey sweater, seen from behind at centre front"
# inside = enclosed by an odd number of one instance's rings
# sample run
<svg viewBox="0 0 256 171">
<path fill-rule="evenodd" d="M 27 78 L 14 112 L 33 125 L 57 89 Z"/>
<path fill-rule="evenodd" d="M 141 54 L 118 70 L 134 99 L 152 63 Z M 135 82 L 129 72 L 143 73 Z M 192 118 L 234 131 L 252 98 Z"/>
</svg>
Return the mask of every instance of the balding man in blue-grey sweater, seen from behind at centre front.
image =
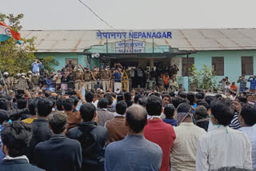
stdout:
<svg viewBox="0 0 256 171">
<path fill-rule="evenodd" d="M 162 149 L 143 136 L 147 123 L 146 109 L 132 105 L 126 112 L 128 134 L 122 141 L 110 143 L 106 147 L 105 170 L 159 170 Z"/>
</svg>

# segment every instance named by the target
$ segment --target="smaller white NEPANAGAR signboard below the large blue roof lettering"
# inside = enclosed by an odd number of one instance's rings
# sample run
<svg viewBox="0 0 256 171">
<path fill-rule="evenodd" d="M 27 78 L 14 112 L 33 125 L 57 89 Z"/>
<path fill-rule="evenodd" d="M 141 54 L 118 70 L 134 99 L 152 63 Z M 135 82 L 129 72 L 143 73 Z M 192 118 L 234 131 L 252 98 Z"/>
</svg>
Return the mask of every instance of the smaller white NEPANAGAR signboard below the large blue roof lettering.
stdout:
<svg viewBox="0 0 256 171">
<path fill-rule="evenodd" d="M 115 42 L 116 53 L 145 53 L 145 42 L 126 40 Z"/>
</svg>

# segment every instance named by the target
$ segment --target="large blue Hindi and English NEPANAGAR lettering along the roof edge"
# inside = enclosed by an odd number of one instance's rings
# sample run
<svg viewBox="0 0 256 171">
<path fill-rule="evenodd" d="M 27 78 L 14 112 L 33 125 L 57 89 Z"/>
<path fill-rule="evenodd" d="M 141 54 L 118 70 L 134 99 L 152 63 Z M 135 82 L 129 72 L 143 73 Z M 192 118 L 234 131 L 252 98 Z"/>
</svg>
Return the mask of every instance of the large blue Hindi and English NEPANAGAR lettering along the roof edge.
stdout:
<svg viewBox="0 0 256 171">
<path fill-rule="evenodd" d="M 171 38 L 171 32 L 97 32 L 97 39 Z"/>
</svg>

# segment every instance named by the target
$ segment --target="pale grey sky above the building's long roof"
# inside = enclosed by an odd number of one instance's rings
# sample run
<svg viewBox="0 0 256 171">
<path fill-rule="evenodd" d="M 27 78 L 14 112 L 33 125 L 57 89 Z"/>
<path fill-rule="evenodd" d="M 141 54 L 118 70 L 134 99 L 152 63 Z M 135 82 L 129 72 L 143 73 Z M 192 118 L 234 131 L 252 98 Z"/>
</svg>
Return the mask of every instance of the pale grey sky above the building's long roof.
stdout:
<svg viewBox="0 0 256 171">
<path fill-rule="evenodd" d="M 256 28 L 256 0 L 82 0 L 120 29 Z M 110 29 L 78 0 L 1 0 L 23 30 Z"/>
</svg>

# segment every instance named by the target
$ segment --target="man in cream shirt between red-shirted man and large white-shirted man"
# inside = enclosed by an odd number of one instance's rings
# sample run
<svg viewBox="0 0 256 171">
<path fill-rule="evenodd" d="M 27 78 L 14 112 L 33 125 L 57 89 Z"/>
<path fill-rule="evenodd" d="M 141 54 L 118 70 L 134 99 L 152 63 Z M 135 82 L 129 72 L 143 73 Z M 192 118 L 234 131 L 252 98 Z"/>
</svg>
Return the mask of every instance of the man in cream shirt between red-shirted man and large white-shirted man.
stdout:
<svg viewBox="0 0 256 171">
<path fill-rule="evenodd" d="M 194 125 L 189 103 L 178 105 L 177 112 L 178 126 L 174 127 L 176 139 L 170 151 L 171 170 L 195 170 L 198 140 L 206 131 Z"/>
</svg>

